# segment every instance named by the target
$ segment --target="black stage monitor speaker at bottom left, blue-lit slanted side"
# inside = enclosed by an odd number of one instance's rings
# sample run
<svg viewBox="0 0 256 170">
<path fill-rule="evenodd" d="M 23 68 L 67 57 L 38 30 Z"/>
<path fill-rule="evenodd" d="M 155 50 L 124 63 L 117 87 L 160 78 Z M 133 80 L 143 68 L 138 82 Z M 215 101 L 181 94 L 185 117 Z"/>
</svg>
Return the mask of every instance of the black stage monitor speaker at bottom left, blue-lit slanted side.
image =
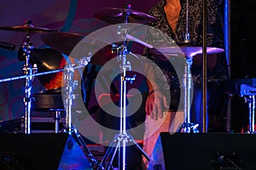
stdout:
<svg viewBox="0 0 256 170">
<path fill-rule="evenodd" d="M 67 133 L 0 134 L 0 169 L 92 169 L 83 150 Z"/>
</svg>

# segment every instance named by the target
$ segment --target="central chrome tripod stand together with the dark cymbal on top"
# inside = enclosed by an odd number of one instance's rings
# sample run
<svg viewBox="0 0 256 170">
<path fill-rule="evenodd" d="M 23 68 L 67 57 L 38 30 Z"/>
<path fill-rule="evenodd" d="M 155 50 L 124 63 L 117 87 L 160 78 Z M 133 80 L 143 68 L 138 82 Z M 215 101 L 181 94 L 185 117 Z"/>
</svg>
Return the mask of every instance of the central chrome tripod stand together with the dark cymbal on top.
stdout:
<svg viewBox="0 0 256 170">
<path fill-rule="evenodd" d="M 122 26 L 118 26 L 117 35 L 122 38 L 123 42 L 121 45 L 113 43 L 112 51 L 116 54 L 117 60 L 119 61 L 120 67 L 120 87 L 119 87 L 119 133 L 115 134 L 111 144 L 106 151 L 106 154 L 103 156 L 100 165 L 103 165 L 107 158 L 109 157 L 107 169 L 112 167 L 114 156 L 116 155 L 117 150 L 119 150 L 118 155 L 118 169 L 125 170 L 126 165 L 126 143 L 130 142 L 135 144 L 137 149 L 143 154 L 143 156 L 149 161 L 149 156 L 143 151 L 143 149 L 135 142 L 131 134 L 126 133 L 126 82 L 135 81 L 134 77 L 127 77 L 126 70 L 131 71 L 131 64 L 126 60 L 126 54 L 129 54 L 126 48 L 127 41 L 127 24 L 128 22 L 138 22 L 138 23 L 148 23 L 152 20 L 155 20 L 154 17 L 150 17 L 147 14 L 142 14 L 140 12 L 135 12 L 131 9 L 131 5 L 128 5 L 127 8 L 104 8 L 99 13 L 95 14 L 96 18 L 100 20 L 107 21 L 110 24 L 115 23 L 124 23 Z M 111 16 L 111 17 L 110 17 Z M 141 20 L 138 20 L 140 18 Z"/>
</svg>

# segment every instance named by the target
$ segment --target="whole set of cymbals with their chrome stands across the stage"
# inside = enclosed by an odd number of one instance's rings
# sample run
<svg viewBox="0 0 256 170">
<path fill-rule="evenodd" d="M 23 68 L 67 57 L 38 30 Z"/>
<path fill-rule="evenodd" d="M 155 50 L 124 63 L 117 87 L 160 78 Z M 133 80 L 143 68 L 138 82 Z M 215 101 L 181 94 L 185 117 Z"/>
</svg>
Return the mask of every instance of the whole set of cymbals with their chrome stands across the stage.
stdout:
<svg viewBox="0 0 256 170">
<path fill-rule="evenodd" d="M 24 54 L 24 60 L 25 64 L 22 68 L 22 71 L 24 72 L 23 76 L 19 77 L 9 77 L 4 78 L 0 80 L 0 82 L 9 82 L 14 81 L 18 79 L 25 79 L 25 90 L 24 90 L 24 109 L 25 109 L 25 128 L 24 133 L 31 133 L 31 113 L 32 113 L 32 81 L 34 77 L 39 76 L 45 76 L 49 74 L 54 74 L 57 72 L 63 71 L 64 75 L 64 91 L 65 95 L 63 96 L 65 99 L 64 105 L 65 105 L 65 133 L 75 134 L 74 136 L 77 137 L 79 140 L 79 143 L 83 146 L 85 153 L 87 156 L 90 157 L 90 162 L 92 167 L 96 169 L 104 169 L 104 164 L 107 158 L 110 156 L 111 159 L 108 162 L 107 168 L 110 169 L 112 166 L 113 157 L 115 156 L 117 150 L 119 150 L 119 169 L 125 169 L 125 144 L 127 142 L 134 143 L 137 146 L 137 149 L 141 151 L 143 156 L 145 156 L 148 161 L 149 157 L 147 154 L 140 148 L 140 146 L 134 141 L 134 139 L 131 137 L 130 134 L 126 133 L 126 82 L 134 81 L 135 77 L 127 77 L 125 72 L 130 69 L 131 65 L 130 62 L 126 60 L 126 38 L 130 38 L 131 40 L 137 41 L 139 43 L 142 43 L 144 46 L 148 48 L 152 48 L 150 44 L 147 44 L 146 42 L 140 41 L 139 39 L 132 37 L 125 31 L 128 23 L 138 23 L 138 24 L 147 24 L 151 21 L 156 20 L 153 16 L 150 16 L 148 14 L 143 14 L 142 12 L 139 12 L 137 10 L 131 9 L 131 6 L 128 5 L 127 8 L 104 8 L 102 11 L 95 14 L 95 17 L 97 19 L 103 20 L 108 22 L 109 24 L 120 24 L 123 23 L 123 27 L 121 28 L 124 31 L 121 31 L 122 35 L 119 35 L 122 37 L 123 42 L 120 46 L 115 46 L 113 48 L 113 52 L 119 56 L 119 68 L 121 70 L 120 75 L 120 99 L 119 99 L 119 133 L 115 135 L 111 147 L 109 147 L 109 150 L 107 150 L 106 155 L 103 157 L 103 160 L 99 163 L 96 161 L 94 156 L 90 153 L 90 150 L 86 147 L 86 144 L 84 144 L 83 139 L 80 138 L 79 133 L 76 131 L 75 127 L 73 127 L 72 124 L 72 106 L 73 106 L 73 99 L 75 99 L 74 89 L 77 87 L 77 81 L 74 81 L 73 75 L 74 71 L 82 68 L 90 62 L 91 57 L 93 56 L 93 53 L 90 52 L 89 54 L 86 54 L 85 57 L 79 59 L 78 62 L 67 64 L 65 68 L 56 69 L 52 71 L 43 71 L 38 72 L 38 66 L 36 64 L 32 65 L 31 60 L 32 59 L 32 53 L 34 50 L 33 44 L 31 42 L 31 33 L 40 33 L 42 34 L 41 38 L 43 42 L 48 45 L 50 48 L 55 49 L 57 52 L 60 52 L 62 54 L 69 55 L 73 48 L 84 38 L 84 36 L 76 34 L 76 33 L 68 33 L 68 32 L 58 32 L 52 29 L 43 28 L 43 27 L 37 27 L 32 25 L 31 20 L 26 20 L 25 25 L 23 26 L 1 26 L 0 30 L 5 31 L 23 31 L 26 32 L 26 39 L 22 44 L 22 53 Z M 89 48 L 93 48 L 92 43 L 84 44 L 85 46 Z M 184 119 L 184 126 L 183 128 L 187 129 L 190 126 L 190 120 L 189 120 L 189 105 L 190 105 L 190 88 L 192 84 L 191 80 L 191 72 L 190 72 L 190 66 L 192 65 L 192 59 L 196 54 L 202 54 L 202 48 L 201 47 L 182 47 L 177 50 L 177 48 L 167 47 L 162 48 L 161 52 L 163 54 L 172 54 L 176 53 L 180 50 L 183 52 L 186 60 L 187 65 L 185 66 L 185 75 L 183 78 L 184 81 L 184 89 L 185 89 L 185 95 L 184 95 L 184 102 L 185 102 L 185 119 Z M 216 54 L 223 52 L 222 49 L 219 48 L 207 48 L 207 53 L 209 54 Z M 75 56 L 74 56 L 75 57 Z M 47 57 L 45 58 L 47 60 Z M 40 62 L 40 58 L 38 59 L 38 64 Z M 187 132 L 190 132 L 188 130 Z"/>
</svg>

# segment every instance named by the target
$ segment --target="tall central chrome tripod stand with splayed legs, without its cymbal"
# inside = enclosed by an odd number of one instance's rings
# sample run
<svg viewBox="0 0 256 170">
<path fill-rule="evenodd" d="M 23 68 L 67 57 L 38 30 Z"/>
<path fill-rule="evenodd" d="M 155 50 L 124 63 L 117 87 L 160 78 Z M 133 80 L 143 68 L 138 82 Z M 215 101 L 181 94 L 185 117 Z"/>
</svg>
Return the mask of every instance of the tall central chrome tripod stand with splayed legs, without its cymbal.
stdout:
<svg viewBox="0 0 256 170">
<path fill-rule="evenodd" d="M 123 39 L 123 44 L 120 46 L 117 46 L 116 44 L 113 44 L 112 51 L 113 53 L 116 52 L 117 54 L 117 60 L 120 62 L 120 86 L 119 86 L 119 133 L 115 134 L 112 142 L 110 143 L 108 150 L 106 151 L 105 156 L 103 156 L 101 165 L 105 163 L 107 158 L 110 157 L 110 161 L 108 161 L 107 169 L 110 169 L 112 167 L 112 162 L 114 159 L 114 156 L 119 150 L 118 155 L 118 169 L 119 170 L 125 170 L 126 165 L 126 143 L 131 142 L 135 144 L 137 147 L 137 150 L 139 150 L 143 156 L 147 158 L 149 161 L 149 156 L 143 151 L 143 149 L 135 142 L 135 140 L 131 137 L 131 134 L 126 133 L 126 82 L 127 81 L 134 81 L 135 77 L 127 77 L 126 76 L 126 70 L 131 71 L 131 64 L 129 61 L 126 60 L 126 54 L 127 48 L 126 48 L 126 35 L 127 35 L 127 23 L 128 23 L 128 17 L 130 15 L 131 5 L 128 5 L 127 11 L 125 12 L 125 25 L 123 27 L 119 26 L 117 29 L 117 35 L 121 36 Z"/>
</svg>

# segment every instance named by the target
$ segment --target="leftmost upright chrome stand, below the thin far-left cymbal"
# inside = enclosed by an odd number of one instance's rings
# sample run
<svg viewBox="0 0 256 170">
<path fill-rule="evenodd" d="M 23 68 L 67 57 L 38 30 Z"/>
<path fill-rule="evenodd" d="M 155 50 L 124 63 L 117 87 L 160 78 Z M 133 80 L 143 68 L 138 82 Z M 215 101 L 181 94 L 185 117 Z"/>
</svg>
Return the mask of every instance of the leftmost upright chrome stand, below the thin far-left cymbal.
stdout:
<svg viewBox="0 0 256 170">
<path fill-rule="evenodd" d="M 25 133 L 31 133 L 31 91 L 32 91 L 32 81 L 33 76 L 38 71 L 37 65 L 31 65 L 29 63 L 30 54 L 33 49 L 32 42 L 30 42 L 30 34 L 27 31 L 26 34 L 26 42 L 22 44 L 22 50 L 26 55 L 26 63 L 23 65 L 23 72 L 26 75 L 26 84 L 25 84 L 25 97 L 23 98 L 24 108 L 25 108 Z"/>
</svg>

